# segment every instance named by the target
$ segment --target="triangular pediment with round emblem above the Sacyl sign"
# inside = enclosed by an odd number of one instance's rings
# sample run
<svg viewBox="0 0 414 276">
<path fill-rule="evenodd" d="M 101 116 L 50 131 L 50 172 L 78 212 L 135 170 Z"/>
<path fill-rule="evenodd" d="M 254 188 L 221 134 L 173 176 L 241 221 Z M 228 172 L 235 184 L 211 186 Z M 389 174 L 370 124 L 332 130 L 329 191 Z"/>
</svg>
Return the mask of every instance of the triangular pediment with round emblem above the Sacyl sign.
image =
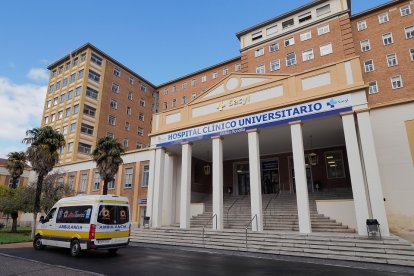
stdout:
<svg viewBox="0 0 414 276">
<path fill-rule="evenodd" d="M 237 93 L 241 90 L 248 89 L 257 85 L 265 85 L 275 82 L 289 75 L 256 75 L 256 74 L 236 74 L 232 73 L 213 87 L 209 88 L 203 94 L 195 98 L 191 104 L 197 104 L 205 100 L 222 97 L 225 95 Z"/>
</svg>

